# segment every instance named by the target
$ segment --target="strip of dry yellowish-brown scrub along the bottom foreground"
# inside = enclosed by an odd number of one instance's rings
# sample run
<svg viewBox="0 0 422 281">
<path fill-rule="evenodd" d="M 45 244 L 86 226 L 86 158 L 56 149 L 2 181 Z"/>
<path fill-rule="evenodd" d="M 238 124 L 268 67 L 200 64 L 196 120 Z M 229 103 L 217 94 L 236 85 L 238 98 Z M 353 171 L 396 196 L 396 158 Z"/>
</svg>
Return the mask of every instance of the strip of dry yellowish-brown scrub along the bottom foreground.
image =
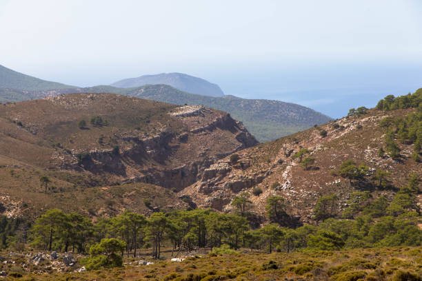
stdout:
<svg viewBox="0 0 422 281">
<path fill-rule="evenodd" d="M 22 280 L 421 280 L 422 248 L 353 249 L 308 253 L 237 253 L 155 261 L 86 273 L 28 274 Z M 3 266 L 4 267 L 4 266 Z M 407 272 L 419 279 L 394 279 Z"/>
</svg>

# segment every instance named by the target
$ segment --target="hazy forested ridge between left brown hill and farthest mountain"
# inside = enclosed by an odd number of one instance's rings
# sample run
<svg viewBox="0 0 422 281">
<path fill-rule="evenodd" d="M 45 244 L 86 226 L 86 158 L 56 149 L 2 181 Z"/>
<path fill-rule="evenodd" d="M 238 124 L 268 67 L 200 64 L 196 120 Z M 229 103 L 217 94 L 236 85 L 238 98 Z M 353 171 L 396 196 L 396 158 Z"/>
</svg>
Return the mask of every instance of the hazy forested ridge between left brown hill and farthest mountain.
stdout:
<svg viewBox="0 0 422 281">
<path fill-rule="evenodd" d="M 331 120 L 319 112 L 294 103 L 223 96 L 212 98 L 174 90 L 165 85 L 145 86 L 128 91 L 132 96 L 173 104 L 205 105 L 229 112 L 242 121 L 259 141 L 271 141 Z"/>
</svg>

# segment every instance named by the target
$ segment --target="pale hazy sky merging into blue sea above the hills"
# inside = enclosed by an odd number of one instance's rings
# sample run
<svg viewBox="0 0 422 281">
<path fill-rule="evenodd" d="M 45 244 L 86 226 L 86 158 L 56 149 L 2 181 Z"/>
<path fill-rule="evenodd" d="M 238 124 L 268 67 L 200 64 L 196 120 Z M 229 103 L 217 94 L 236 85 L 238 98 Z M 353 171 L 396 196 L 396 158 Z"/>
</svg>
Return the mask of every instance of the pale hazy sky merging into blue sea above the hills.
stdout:
<svg viewBox="0 0 422 281">
<path fill-rule="evenodd" d="M 0 0 L 0 64 L 70 85 L 183 72 L 334 118 L 422 87 L 419 0 Z"/>
</svg>

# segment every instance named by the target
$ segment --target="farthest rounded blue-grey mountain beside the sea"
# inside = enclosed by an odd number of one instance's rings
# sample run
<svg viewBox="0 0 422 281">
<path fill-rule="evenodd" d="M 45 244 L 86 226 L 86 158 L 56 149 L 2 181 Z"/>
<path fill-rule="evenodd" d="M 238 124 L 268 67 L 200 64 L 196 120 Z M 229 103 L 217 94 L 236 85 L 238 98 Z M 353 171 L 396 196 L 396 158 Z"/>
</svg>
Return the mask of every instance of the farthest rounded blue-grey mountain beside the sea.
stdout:
<svg viewBox="0 0 422 281">
<path fill-rule="evenodd" d="M 178 90 L 201 94 L 203 96 L 224 96 L 219 85 L 210 83 L 204 79 L 190 76 L 183 73 L 161 73 L 155 75 L 143 75 L 137 78 L 123 79 L 112 83 L 114 87 L 139 87 L 143 85 L 165 84 L 175 87 Z"/>
</svg>

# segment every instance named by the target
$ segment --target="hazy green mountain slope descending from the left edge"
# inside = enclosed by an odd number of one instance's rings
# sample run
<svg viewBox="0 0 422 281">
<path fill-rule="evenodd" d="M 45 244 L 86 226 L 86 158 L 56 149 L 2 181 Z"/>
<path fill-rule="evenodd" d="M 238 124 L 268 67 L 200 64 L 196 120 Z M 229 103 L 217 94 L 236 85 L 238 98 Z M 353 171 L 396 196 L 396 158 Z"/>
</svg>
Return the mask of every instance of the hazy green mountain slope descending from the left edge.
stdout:
<svg viewBox="0 0 422 281">
<path fill-rule="evenodd" d="M 0 88 L 23 91 L 46 91 L 57 89 L 71 89 L 74 86 L 41 80 L 26 74 L 10 70 L 0 65 Z"/>
</svg>

